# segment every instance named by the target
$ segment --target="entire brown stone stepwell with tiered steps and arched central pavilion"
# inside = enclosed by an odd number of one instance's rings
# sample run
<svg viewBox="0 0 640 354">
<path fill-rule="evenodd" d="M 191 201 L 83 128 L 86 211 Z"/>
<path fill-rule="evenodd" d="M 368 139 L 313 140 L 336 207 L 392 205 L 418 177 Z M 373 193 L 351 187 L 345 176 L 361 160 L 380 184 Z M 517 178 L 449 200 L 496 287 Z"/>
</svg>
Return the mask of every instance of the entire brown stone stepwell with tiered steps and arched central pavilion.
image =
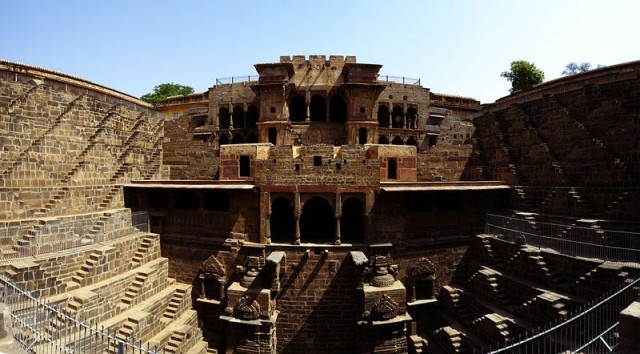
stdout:
<svg viewBox="0 0 640 354">
<path fill-rule="evenodd" d="M 640 273 L 639 63 L 481 106 L 355 57 L 283 56 L 154 107 L 1 64 L 0 267 L 122 340 L 482 350 Z"/>
</svg>

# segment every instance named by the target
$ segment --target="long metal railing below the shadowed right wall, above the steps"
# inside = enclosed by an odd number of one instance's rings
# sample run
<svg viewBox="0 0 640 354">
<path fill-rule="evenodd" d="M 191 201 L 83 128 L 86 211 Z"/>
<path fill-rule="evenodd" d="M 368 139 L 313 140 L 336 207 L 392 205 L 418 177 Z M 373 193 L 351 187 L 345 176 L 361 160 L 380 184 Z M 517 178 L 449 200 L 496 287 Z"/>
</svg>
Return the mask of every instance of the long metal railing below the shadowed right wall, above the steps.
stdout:
<svg viewBox="0 0 640 354">
<path fill-rule="evenodd" d="M 487 214 L 485 232 L 573 257 L 640 263 L 640 233 Z"/>
</svg>

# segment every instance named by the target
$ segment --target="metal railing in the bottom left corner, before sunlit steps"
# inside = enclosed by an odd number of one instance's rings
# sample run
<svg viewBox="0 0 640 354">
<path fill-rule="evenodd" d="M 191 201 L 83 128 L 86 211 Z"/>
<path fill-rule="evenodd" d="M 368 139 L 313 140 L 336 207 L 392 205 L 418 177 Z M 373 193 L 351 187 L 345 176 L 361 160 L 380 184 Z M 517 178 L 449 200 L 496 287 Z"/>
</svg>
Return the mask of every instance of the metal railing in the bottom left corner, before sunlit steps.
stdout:
<svg viewBox="0 0 640 354">
<path fill-rule="evenodd" d="M 120 334 L 112 328 L 79 320 L 2 275 L 0 287 L 13 337 L 29 353 L 164 353 L 164 348 L 152 348 L 132 337 L 118 338 Z"/>
</svg>

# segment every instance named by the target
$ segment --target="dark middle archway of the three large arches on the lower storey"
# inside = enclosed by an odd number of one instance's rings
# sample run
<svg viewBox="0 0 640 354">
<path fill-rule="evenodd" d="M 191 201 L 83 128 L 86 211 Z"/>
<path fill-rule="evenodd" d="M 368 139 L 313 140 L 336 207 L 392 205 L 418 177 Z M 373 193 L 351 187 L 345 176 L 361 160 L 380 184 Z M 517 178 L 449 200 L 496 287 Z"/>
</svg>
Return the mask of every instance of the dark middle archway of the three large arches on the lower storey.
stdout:
<svg viewBox="0 0 640 354">
<path fill-rule="evenodd" d="M 302 242 L 333 243 L 335 224 L 333 208 L 329 202 L 321 197 L 313 197 L 302 207 L 300 239 Z"/>
</svg>

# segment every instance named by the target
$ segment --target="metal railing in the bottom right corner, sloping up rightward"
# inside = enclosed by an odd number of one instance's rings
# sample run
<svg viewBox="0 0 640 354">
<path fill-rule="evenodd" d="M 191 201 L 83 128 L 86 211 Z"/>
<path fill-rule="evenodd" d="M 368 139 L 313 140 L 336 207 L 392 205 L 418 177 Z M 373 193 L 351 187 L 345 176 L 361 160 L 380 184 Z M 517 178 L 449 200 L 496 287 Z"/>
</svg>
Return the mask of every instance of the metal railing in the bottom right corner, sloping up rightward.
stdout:
<svg viewBox="0 0 640 354">
<path fill-rule="evenodd" d="M 620 312 L 638 299 L 640 278 L 617 291 L 601 296 L 572 312 L 569 319 L 557 319 L 498 349 L 498 353 L 605 353 L 618 344 Z"/>
</svg>

